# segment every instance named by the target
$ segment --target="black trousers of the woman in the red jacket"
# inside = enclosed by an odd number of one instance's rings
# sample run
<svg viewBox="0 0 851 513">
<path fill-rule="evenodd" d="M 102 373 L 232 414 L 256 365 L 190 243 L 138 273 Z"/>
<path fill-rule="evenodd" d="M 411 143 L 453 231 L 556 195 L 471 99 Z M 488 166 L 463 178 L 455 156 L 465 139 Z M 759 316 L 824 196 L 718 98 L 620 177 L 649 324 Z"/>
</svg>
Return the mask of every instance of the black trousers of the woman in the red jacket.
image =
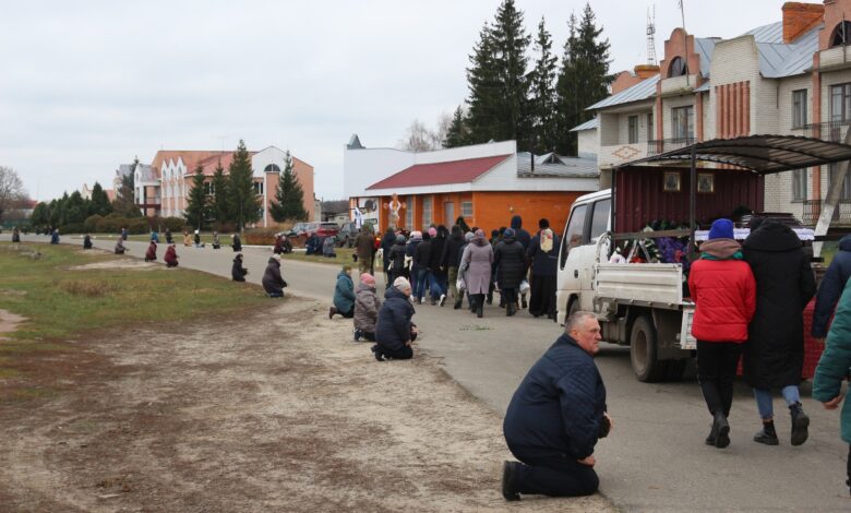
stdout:
<svg viewBox="0 0 851 513">
<path fill-rule="evenodd" d="M 730 416 L 733 404 L 733 380 L 742 345 L 732 342 L 697 341 L 697 382 L 709 413 Z"/>
</svg>

